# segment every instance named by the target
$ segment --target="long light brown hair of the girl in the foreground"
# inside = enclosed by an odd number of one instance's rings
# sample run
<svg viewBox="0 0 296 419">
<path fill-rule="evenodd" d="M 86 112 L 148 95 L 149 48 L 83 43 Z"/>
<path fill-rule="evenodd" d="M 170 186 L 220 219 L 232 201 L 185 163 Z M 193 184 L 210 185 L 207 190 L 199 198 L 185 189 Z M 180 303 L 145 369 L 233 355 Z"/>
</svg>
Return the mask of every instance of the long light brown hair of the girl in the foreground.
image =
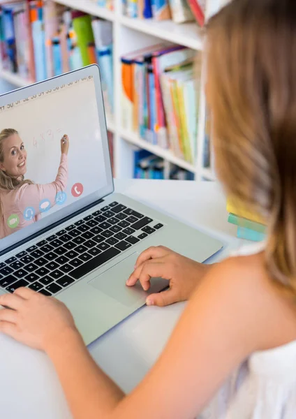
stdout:
<svg viewBox="0 0 296 419">
<path fill-rule="evenodd" d="M 268 226 L 267 270 L 296 296 L 296 3 L 233 0 L 207 26 L 216 172 Z"/>
</svg>

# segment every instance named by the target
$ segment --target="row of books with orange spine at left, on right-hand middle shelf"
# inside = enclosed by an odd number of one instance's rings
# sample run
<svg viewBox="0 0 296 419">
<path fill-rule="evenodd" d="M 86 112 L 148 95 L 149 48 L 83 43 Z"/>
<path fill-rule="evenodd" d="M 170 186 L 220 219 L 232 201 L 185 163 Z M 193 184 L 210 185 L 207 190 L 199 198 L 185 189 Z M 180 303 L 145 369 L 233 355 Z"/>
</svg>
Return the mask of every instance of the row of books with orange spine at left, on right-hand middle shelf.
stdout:
<svg viewBox="0 0 296 419">
<path fill-rule="evenodd" d="M 201 54 L 158 44 L 121 57 L 122 126 L 194 163 Z"/>
</svg>

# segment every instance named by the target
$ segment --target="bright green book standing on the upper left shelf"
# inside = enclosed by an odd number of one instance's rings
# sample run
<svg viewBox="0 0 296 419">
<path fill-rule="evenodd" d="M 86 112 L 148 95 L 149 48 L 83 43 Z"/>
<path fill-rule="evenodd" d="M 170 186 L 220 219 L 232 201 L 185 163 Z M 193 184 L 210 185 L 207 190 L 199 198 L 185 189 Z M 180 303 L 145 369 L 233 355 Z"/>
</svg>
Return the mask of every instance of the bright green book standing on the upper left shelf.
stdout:
<svg viewBox="0 0 296 419">
<path fill-rule="evenodd" d="M 91 16 L 84 15 L 73 19 L 73 29 L 77 36 L 77 45 L 80 49 L 83 66 L 89 66 L 88 45 L 94 43 L 94 33 L 91 27 Z"/>
</svg>

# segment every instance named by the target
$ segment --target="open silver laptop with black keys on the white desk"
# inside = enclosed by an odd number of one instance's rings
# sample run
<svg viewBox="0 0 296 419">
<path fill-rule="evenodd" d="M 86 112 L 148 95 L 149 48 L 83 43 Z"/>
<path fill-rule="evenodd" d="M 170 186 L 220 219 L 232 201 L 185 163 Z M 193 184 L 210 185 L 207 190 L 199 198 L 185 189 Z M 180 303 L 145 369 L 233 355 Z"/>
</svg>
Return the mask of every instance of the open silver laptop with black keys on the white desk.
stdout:
<svg viewBox="0 0 296 419">
<path fill-rule="evenodd" d="M 18 134 L 3 140 L 1 168 L 20 184 L 0 189 L 0 294 L 27 286 L 57 297 L 86 344 L 145 304 L 125 282 L 147 247 L 203 262 L 223 246 L 114 193 L 97 66 L 0 96 L 4 128 Z M 166 286 L 153 279 L 149 293 Z"/>
</svg>

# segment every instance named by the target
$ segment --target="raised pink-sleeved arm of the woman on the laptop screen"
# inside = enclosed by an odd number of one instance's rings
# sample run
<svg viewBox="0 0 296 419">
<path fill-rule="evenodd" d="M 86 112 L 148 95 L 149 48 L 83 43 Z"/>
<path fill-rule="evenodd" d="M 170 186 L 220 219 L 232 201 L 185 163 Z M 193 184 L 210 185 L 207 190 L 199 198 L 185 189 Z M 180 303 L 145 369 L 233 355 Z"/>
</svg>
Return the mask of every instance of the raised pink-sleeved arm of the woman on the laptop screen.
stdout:
<svg viewBox="0 0 296 419">
<path fill-rule="evenodd" d="M 27 207 L 33 207 L 36 214 L 40 214 L 40 202 L 50 201 L 50 207 L 55 205 L 57 193 L 64 191 L 68 180 L 68 156 L 61 154 L 59 170 L 54 182 L 50 184 L 24 184 L 16 192 L 17 206 L 22 214 Z"/>
</svg>

